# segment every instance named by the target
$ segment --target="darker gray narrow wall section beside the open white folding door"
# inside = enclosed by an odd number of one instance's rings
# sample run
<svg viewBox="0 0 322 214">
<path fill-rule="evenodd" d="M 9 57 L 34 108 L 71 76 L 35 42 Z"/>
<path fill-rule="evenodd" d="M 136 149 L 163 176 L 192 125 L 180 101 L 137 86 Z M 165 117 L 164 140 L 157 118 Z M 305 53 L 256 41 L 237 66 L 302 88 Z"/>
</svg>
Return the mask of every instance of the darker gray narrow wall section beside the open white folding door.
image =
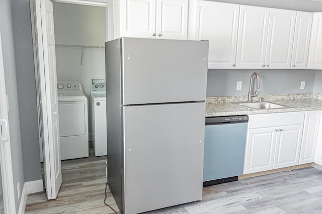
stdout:
<svg viewBox="0 0 322 214">
<path fill-rule="evenodd" d="M 12 0 L 21 139 L 26 181 L 41 179 L 29 0 Z"/>
</svg>

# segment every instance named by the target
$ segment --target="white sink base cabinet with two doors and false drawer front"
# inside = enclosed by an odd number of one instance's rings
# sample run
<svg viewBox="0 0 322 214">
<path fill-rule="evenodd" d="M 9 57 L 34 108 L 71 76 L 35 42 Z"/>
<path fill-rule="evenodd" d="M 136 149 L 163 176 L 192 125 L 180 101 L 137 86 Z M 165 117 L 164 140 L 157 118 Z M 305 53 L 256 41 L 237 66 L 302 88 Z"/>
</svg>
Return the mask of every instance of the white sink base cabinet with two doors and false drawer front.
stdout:
<svg viewBox="0 0 322 214">
<path fill-rule="evenodd" d="M 304 114 L 250 115 L 244 174 L 298 165 Z"/>
</svg>

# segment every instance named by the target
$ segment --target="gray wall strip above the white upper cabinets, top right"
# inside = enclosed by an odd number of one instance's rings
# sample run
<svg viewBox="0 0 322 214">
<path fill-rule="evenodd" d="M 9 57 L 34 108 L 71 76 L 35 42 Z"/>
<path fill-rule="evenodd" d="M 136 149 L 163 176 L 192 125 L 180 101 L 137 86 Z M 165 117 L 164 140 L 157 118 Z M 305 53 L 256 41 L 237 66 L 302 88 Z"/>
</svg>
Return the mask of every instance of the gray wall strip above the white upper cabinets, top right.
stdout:
<svg viewBox="0 0 322 214">
<path fill-rule="evenodd" d="M 294 11 L 322 12 L 322 3 L 312 0 L 218 0 L 214 2 L 280 8 Z"/>
</svg>

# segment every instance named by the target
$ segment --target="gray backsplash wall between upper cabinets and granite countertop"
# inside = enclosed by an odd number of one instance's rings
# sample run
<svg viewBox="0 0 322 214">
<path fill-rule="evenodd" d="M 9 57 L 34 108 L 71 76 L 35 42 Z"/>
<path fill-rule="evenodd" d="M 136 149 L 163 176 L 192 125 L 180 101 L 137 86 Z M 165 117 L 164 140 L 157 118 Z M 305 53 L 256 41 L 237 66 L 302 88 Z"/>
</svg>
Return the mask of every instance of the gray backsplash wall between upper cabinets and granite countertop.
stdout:
<svg viewBox="0 0 322 214">
<path fill-rule="evenodd" d="M 260 95 L 305 93 L 314 88 L 315 70 L 208 70 L 207 96 L 247 95 L 253 72 L 260 76 Z M 236 90 L 237 81 L 242 81 L 241 90 Z M 303 90 L 301 81 L 305 81 Z"/>
</svg>

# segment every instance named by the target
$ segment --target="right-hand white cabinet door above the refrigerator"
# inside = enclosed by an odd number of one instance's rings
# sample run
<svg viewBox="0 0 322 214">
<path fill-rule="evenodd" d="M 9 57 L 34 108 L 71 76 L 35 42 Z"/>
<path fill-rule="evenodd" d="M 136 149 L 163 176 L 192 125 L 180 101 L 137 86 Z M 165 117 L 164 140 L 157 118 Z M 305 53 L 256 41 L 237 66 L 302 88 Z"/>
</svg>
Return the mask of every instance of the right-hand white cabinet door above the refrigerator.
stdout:
<svg viewBox="0 0 322 214">
<path fill-rule="evenodd" d="M 157 39 L 187 39 L 187 28 L 188 0 L 157 0 Z"/>
</svg>

